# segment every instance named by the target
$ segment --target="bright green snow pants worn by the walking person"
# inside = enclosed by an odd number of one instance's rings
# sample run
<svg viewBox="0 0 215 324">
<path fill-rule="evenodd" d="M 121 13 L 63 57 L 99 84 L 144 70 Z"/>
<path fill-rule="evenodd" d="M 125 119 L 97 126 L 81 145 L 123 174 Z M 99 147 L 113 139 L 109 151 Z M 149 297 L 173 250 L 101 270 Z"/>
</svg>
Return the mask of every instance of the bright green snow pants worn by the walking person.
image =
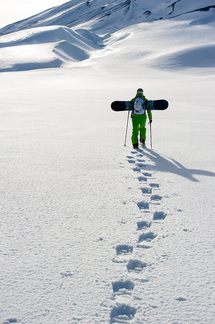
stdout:
<svg viewBox="0 0 215 324">
<path fill-rule="evenodd" d="M 141 139 L 145 140 L 145 133 L 146 133 L 146 128 L 145 128 L 145 123 L 146 123 L 146 114 L 133 114 L 132 116 L 132 125 L 133 125 L 133 132 L 132 132 L 132 145 L 138 143 L 138 134 L 139 131 L 141 133 Z"/>
</svg>

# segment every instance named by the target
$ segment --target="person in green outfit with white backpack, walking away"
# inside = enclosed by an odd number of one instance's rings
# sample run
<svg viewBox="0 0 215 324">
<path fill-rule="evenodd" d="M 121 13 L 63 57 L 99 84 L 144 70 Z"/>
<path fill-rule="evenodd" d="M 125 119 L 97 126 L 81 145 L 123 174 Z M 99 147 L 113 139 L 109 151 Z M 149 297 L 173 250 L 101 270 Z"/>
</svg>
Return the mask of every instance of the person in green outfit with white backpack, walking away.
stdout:
<svg viewBox="0 0 215 324">
<path fill-rule="evenodd" d="M 152 113 L 151 110 L 147 109 L 146 104 L 148 102 L 148 99 L 145 98 L 143 95 L 143 89 L 139 88 L 137 89 L 137 94 L 136 96 L 131 99 L 131 101 L 134 101 L 134 110 L 132 113 L 132 125 L 133 125 L 133 132 L 132 132 L 132 145 L 134 148 L 138 148 L 138 133 L 140 131 L 140 143 L 145 146 L 145 133 L 146 133 L 146 128 L 145 128 L 145 123 L 146 123 L 146 113 L 145 110 L 147 111 L 148 118 L 150 125 L 152 123 Z"/>
</svg>

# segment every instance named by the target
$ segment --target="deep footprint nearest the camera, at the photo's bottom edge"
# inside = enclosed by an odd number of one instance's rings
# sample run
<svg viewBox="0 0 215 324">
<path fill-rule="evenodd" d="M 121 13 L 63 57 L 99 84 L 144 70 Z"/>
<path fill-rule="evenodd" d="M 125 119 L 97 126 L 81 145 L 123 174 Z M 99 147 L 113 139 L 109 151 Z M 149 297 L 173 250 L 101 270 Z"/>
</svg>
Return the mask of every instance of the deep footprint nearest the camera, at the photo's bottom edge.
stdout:
<svg viewBox="0 0 215 324">
<path fill-rule="evenodd" d="M 111 310 L 111 324 L 112 323 L 128 323 L 134 318 L 136 308 L 126 304 L 117 304 Z"/>
</svg>

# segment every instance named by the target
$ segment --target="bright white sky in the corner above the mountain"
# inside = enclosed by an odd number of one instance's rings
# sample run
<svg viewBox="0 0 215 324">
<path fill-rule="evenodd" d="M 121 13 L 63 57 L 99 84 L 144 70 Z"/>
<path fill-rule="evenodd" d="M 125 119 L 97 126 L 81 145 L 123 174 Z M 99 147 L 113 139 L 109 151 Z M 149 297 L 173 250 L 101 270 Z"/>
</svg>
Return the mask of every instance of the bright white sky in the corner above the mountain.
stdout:
<svg viewBox="0 0 215 324">
<path fill-rule="evenodd" d="M 0 0 L 0 28 L 69 0 Z"/>
</svg>

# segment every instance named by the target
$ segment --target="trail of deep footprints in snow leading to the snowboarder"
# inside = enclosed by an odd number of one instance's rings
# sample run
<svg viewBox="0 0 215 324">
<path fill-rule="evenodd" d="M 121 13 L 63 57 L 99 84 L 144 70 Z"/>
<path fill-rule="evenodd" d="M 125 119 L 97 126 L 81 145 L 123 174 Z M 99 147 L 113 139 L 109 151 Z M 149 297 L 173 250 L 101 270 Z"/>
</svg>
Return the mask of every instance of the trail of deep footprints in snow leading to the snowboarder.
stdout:
<svg viewBox="0 0 215 324">
<path fill-rule="evenodd" d="M 137 179 L 140 181 L 140 183 L 141 184 L 144 183 L 144 187 L 139 188 L 143 193 L 144 200 L 141 202 L 136 202 L 137 206 L 139 207 L 139 213 L 141 213 L 141 220 L 136 222 L 137 229 L 138 231 L 142 231 L 142 233 L 139 234 L 139 237 L 137 238 L 136 246 L 133 247 L 129 244 L 120 244 L 116 246 L 117 257 L 119 255 L 121 256 L 127 255 L 128 258 L 132 256 L 133 249 L 135 248 L 141 248 L 141 249 L 153 248 L 152 245 L 148 245 L 148 244 L 151 243 L 154 239 L 156 239 L 158 235 L 161 234 L 161 233 L 156 234 L 151 230 L 151 227 L 153 228 L 153 222 L 155 221 L 162 222 L 167 216 L 167 213 L 164 213 L 163 211 L 160 210 L 160 208 L 157 208 L 156 211 L 153 213 L 153 215 L 150 215 L 150 217 L 146 217 L 146 215 L 148 216 L 150 213 L 150 205 L 151 204 L 160 205 L 163 196 L 157 194 L 157 191 L 160 191 L 159 188 L 160 186 L 158 183 L 154 183 L 154 182 L 147 183 L 147 180 L 151 181 L 151 179 L 153 179 L 154 176 L 152 173 L 145 172 L 145 170 L 143 172 L 143 168 L 144 169 L 146 168 L 146 164 L 144 164 L 144 162 L 146 162 L 147 164 L 151 164 L 152 162 L 152 160 L 144 154 L 144 149 L 138 149 L 135 152 L 131 151 L 130 153 L 132 155 L 126 156 L 127 162 L 131 166 L 135 164 L 135 167 L 133 167 L 132 169 L 135 173 L 137 173 Z M 166 198 L 168 197 L 166 196 Z M 143 213 L 148 213 L 148 214 L 143 214 Z M 187 231 L 186 229 L 183 230 Z M 147 243 L 147 244 L 142 244 L 142 243 Z M 167 257 L 166 254 L 162 256 Z M 122 264 L 127 262 L 126 267 L 128 273 L 136 273 L 140 275 L 144 274 L 145 267 L 150 266 L 146 262 L 144 262 L 144 260 L 137 260 L 137 259 L 130 259 L 130 258 L 128 260 L 128 258 L 127 259 L 113 258 L 112 261 L 122 263 Z M 153 269 L 153 271 L 155 270 Z M 130 304 L 132 301 L 132 297 L 133 299 L 141 300 L 140 297 L 136 295 L 134 296 L 134 287 L 136 282 L 138 281 L 139 280 L 137 279 L 135 280 L 135 278 L 133 278 L 133 281 L 125 278 L 124 281 L 118 280 L 112 282 L 113 298 L 116 301 L 116 305 L 111 310 L 111 323 L 126 324 L 132 318 L 134 318 L 137 309 L 135 307 L 131 307 Z M 117 298 L 122 298 L 122 296 L 124 296 L 124 298 L 129 298 L 130 299 L 129 303 L 126 302 L 122 303 L 121 299 L 118 301 Z M 178 297 L 176 298 L 176 300 L 185 301 L 186 298 Z"/>
</svg>

